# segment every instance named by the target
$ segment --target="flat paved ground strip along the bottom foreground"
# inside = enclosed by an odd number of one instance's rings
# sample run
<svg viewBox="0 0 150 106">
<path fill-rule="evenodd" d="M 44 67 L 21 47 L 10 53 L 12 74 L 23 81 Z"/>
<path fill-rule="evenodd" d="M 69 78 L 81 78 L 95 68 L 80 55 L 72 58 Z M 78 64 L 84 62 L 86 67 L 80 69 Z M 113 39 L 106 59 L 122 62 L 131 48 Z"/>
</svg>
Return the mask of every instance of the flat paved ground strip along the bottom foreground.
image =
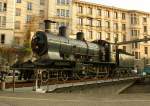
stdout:
<svg viewBox="0 0 150 106">
<path fill-rule="evenodd" d="M 150 94 L 107 97 L 83 94 L 1 93 L 0 106 L 150 106 Z"/>
</svg>

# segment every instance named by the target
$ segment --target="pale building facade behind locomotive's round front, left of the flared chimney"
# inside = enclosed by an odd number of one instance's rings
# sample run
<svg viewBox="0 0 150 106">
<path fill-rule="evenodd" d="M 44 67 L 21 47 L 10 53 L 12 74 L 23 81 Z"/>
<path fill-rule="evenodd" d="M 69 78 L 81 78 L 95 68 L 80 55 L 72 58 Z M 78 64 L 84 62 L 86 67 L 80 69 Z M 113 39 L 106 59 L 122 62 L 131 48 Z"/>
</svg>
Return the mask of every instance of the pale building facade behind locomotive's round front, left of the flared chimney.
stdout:
<svg viewBox="0 0 150 106">
<path fill-rule="evenodd" d="M 46 0 L 15 0 L 15 41 L 23 43 L 27 30 L 35 32 L 44 29 L 43 20 L 47 17 Z"/>
</svg>

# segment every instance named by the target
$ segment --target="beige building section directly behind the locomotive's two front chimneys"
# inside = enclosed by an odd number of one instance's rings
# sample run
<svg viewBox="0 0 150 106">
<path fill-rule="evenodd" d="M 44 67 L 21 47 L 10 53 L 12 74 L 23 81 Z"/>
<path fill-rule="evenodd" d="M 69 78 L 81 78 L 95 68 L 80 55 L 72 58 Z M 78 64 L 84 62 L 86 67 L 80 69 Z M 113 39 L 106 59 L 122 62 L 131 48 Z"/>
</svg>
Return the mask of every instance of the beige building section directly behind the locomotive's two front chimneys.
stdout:
<svg viewBox="0 0 150 106">
<path fill-rule="evenodd" d="M 56 22 L 51 25 L 52 32 L 57 34 L 60 26 L 67 26 L 70 34 L 71 8 L 72 0 L 49 0 L 48 19 Z"/>
</svg>

